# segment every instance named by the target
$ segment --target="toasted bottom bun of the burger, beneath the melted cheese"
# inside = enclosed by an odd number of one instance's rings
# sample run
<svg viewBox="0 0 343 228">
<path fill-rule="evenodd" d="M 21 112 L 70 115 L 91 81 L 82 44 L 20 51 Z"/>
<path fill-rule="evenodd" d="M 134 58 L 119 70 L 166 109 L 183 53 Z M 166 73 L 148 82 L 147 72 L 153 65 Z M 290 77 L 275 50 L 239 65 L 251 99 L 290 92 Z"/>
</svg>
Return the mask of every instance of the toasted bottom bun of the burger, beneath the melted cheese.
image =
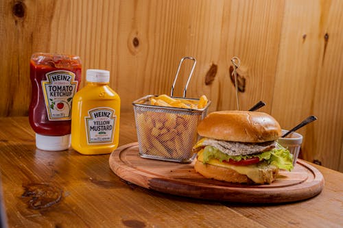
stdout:
<svg viewBox="0 0 343 228">
<path fill-rule="evenodd" d="M 232 168 L 223 168 L 219 166 L 213 166 L 211 164 L 204 164 L 203 162 L 198 160 L 196 161 L 196 164 L 194 164 L 194 169 L 196 170 L 196 172 L 209 179 L 216 179 L 219 181 L 227 181 L 231 183 L 255 183 L 246 175 L 242 175 Z M 272 179 L 264 181 L 266 183 L 271 183 L 276 179 L 277 173 L 279 173 L 279 169 L 273 170 Z"/>
</svg>

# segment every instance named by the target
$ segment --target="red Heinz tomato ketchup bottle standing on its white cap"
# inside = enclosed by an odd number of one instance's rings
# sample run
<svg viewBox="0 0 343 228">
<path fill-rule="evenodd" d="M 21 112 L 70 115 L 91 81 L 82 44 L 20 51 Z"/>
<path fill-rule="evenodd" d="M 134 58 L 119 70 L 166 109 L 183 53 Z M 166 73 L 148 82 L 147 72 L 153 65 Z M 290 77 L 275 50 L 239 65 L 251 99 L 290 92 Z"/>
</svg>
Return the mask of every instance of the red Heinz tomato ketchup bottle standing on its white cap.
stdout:
<svg viewBox="0 0 343 228">
<path fill-rule="evenodd" d="M 36 132 L 36 147 L 45 151 L 68 149 L 71 104 L 81 80 L 80 58 L 34 53 L 30 61 L 30 79 L 29 123 Z"/>
</svg>

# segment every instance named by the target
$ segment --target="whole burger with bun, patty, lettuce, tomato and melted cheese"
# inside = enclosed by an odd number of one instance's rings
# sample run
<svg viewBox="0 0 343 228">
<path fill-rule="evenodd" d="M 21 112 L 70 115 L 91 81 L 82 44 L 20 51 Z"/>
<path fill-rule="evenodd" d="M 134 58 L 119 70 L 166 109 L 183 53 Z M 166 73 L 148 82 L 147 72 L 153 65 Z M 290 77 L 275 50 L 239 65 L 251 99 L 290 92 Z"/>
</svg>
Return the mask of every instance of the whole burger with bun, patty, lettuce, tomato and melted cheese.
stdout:
<svg viewBox="0 0 343 228">
<path fill-rule="evenodd" d="M 212 112 L 198 125 L 195 170 L 233 183 L 272 183 L 279 169 L 292 170 L 292 155 L 276 140 L 279 123 L 263 112 Z"/>
</svg>

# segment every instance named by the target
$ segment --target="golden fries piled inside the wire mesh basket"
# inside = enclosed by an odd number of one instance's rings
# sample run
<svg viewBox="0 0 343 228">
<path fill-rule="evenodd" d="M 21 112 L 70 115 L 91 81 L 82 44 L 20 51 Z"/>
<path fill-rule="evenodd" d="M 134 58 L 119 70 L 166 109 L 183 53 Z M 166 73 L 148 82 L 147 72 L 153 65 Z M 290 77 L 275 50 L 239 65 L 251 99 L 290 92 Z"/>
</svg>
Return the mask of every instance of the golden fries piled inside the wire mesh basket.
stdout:
<svg viewBox="0 0 343 228">
<path fill-rule="evenodd" d="M 150 97 L 149 102 L 150 105 L 200 110 L 206 107 L 208 100 L 204 95 L 200 99 L 176 99 L 163 94 Z M 185 148 L 191 148 L 196 142 L 196 127 L 201 116 L 174 110 L 151 110 L 137 114 L 136 118 L 144 154 L 176 160 L 189 157 L 191 151 L 185 151 Z"/>
</svg>

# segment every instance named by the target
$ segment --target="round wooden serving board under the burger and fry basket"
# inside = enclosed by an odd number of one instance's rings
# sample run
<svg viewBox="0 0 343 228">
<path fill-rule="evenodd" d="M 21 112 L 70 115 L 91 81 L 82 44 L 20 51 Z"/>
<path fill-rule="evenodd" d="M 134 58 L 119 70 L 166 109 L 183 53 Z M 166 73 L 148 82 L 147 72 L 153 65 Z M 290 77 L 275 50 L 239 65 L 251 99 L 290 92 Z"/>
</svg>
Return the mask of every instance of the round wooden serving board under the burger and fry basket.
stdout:
<svg viewBox="0 0 343 228">
<path fill-rule="evenodd" d="M 122 179 L 143 188 L 198 199 L 240 203 L 285 203 L 316 196 L 324 187 L 322 174 L 301 160 L 292 172 L 281 170 L 276 181 L 246 185 L 206 179 L 193 163 L 150 160 L 139 156 L 137 142 L 119 147 L 110 155 L 110 168 Z"/>
</svg>

